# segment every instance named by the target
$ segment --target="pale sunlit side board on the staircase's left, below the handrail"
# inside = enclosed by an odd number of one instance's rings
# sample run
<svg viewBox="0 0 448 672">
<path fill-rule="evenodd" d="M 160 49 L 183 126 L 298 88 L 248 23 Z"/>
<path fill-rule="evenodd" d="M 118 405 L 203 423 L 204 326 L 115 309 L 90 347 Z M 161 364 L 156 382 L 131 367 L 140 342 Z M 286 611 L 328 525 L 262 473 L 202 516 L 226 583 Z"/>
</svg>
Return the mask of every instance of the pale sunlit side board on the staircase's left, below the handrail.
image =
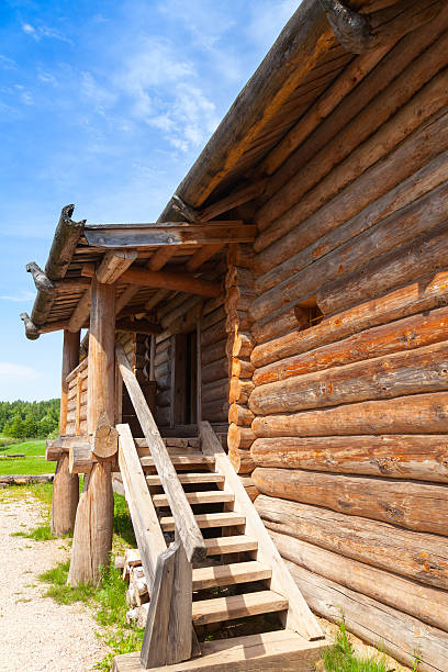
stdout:
<svg viewBox="0 0 448 672">
<path fill-rule="evenodd" d="M 143 473 L 128 425 L 117 425 L 119 464 L 126 502 L 130 507 L 141 560 L 149 585 L 153 585 L 157 558 L 167 545 Z"/>
</svg>

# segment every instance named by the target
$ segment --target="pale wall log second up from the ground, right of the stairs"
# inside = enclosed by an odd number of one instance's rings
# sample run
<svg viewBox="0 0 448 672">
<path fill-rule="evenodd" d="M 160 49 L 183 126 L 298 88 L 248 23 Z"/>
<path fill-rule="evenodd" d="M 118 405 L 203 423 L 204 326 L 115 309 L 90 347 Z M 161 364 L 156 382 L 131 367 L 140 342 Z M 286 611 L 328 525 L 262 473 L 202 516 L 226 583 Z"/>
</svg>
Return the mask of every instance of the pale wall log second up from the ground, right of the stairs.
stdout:
<svg viewBox="0 0 448 672">
<path fill-rule="evenodd" d="M 309 572 L 410 614 L 423 623 L 448 630 L 448 593 L 396 576 L 313 544 L 270 530 L 280 555 Z"/>
</svg>

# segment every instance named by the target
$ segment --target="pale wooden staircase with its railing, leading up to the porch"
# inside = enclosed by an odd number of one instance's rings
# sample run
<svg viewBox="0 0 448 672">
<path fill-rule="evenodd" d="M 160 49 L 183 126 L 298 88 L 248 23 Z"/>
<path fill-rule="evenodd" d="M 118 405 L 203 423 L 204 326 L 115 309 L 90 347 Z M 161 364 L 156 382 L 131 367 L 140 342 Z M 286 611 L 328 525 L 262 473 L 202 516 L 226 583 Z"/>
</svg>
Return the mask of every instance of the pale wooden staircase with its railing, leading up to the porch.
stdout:
<svg viewBox="0 0 448 672">
<path fill-rule="evenodd" d="M 198 447 L 166 448 L 124 354 L 117 356 L 145 434 L 134 439 L 127 425 L 117 426 L 123 485 L 152 587 L 142 652 L 117 656 L 115 672 L 310 672 L 326 645 L 322 630 L 212 427 L 200 423 Z M 268 614 L 277 623 L 260 618 Z M 247 635 L 254 616 L 257 631 Z M 243 636 L 198 642 L 210 624 L 236 619 L 248 619 Z"/>
</svg>

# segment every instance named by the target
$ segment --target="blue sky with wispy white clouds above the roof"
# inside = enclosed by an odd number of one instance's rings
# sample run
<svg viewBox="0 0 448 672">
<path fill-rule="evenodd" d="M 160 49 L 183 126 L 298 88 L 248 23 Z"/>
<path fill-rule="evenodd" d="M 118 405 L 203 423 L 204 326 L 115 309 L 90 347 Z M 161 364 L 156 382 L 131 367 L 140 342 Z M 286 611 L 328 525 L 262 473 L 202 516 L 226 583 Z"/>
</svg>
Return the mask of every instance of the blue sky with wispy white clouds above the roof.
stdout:
<svg viewBox="0 0 448 672">
<path fill-rule="evenodd" d="M 60 208 L 154 221 L 298 4 L 0 0 L 0 401 L 59 395 L 61 335 L 19 313 Z"/>
</svg>

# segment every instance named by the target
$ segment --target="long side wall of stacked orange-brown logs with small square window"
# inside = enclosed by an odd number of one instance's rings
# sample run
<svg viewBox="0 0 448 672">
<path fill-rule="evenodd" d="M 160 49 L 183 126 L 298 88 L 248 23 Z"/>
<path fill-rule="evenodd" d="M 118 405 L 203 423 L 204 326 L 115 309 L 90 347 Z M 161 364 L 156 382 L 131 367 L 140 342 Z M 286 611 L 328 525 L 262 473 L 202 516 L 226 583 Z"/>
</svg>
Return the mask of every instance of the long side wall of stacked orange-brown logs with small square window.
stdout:
<svg viewBox="0 0 448 672">
<path fill-rule="evenodd" d="M 447 29 L 444 8 L 352 85 L 351 61 L 267 157 L 226 299 L 259 514 L 315 612 L 422 670 L 448 664 Z"/>
</svg>

